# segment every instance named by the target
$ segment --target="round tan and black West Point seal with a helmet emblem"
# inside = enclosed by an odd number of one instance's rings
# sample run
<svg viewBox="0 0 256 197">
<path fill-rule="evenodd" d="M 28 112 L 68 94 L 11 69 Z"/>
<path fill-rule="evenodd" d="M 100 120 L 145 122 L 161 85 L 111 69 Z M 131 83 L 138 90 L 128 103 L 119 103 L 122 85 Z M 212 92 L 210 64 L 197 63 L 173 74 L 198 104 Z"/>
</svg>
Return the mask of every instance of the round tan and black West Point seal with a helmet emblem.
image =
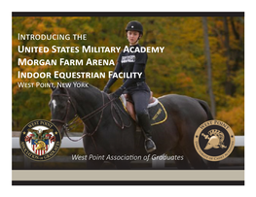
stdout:
<svg viewBox="0 0 256 197">
<path fill-rule="evenodd" d="M 205 160 L 220 161 L 233 151 L 235 135 L 227 123 L 216 119 L 208 120 L 197 129 L 194 146 Z"/>
</svg>

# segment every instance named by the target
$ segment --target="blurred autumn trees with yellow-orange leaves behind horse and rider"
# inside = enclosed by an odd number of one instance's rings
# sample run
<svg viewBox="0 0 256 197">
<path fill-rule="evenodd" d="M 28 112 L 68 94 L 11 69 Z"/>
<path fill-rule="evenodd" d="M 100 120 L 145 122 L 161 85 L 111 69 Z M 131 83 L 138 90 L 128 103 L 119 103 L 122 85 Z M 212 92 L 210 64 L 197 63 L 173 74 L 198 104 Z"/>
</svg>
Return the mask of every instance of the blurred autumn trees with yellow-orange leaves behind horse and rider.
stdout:
<svg viewBox="0 0 256 197">
<path fill-rule="evenodd" d="M 20 88 L 17 82 L 47 82 L 47 79 L 18 79 L 18 71 L 104 72 L 113 66 L 18 66 L 18 58 L 30 59 L 117 59 L 118 53 L 18 53 L 18 46 L 105 46 L 128 45 L 125 28 L 129 20 L 144 26 L 140 45 L 165 47 L 164 53 L 148 53 L 147 83 L 155 96 L 183 94 L 205 100 L 209 105 L 207 61 L 204 53 L 202 18 L 197 16 L 93 16 L 13 17 L 13 130 L 29 121 L 51 119 L 50 88 Z M 212 92 L 216 119 L 227 122 L 236 135 L 244 130 L 244 20 L 239 16 L 207 17 Z M 19 34 L 87 34 L 87 41 L 20 41 Z M 51 82 L 58 80 L 52 79 Z M 61 80 L 73 82 L 76 80 Z M 82 81 L 82 80 L 80 80 Z M 108 79 L 87 79 L 102 89 Z M 112 90 L 121 85 L 116 82 Z"/>
</svg>

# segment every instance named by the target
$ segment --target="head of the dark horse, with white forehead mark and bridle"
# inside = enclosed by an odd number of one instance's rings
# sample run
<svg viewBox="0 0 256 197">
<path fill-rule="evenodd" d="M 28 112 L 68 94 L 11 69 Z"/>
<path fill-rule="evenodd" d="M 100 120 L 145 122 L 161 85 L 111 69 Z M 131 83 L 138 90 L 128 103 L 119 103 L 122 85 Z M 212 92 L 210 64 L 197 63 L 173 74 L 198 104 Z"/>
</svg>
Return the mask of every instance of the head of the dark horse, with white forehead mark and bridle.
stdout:
<svg viewBox="0 0 256 197">
<path fill-rule="evenodd" d="M 51 100 L 49 107 L 51 109 L 52 119 L 61 138 L 64 136 L 64 126 L 77 114 L 76 107 L 71 100 L 70 93 L 65 87 L 55 87 L 52 85 Z"/>
</svg>

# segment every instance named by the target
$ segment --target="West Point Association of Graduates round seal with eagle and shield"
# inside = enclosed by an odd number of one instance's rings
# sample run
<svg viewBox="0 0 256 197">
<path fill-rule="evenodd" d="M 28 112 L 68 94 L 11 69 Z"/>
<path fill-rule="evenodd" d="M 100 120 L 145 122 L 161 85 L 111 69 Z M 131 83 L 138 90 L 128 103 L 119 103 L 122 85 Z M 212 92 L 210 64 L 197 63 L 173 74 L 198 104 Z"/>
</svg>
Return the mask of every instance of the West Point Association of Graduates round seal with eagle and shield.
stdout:
<svg viewBox="0 0 256 197">
<path fill-rule="evenodd" d="M 55 124 L 48 120 L 30 121 L 21 130 L 19 145 L 22 152 L 34 161 L 46 161 L 55 156 L 61 144 Z"/>
</svg>

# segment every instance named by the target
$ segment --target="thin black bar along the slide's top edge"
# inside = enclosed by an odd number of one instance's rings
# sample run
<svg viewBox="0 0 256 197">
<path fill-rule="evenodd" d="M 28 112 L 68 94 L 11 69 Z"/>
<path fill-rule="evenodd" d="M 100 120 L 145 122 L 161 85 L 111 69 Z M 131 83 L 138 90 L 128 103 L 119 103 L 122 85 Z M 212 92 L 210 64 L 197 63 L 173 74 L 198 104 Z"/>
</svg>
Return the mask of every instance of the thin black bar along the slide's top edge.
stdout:
<svg viewBox="0 0 256 197">
<path fill-rule="evenodd" d="M 244 16 L 244 12 L 13 12 L 12 16 Z"/>
</svg>

